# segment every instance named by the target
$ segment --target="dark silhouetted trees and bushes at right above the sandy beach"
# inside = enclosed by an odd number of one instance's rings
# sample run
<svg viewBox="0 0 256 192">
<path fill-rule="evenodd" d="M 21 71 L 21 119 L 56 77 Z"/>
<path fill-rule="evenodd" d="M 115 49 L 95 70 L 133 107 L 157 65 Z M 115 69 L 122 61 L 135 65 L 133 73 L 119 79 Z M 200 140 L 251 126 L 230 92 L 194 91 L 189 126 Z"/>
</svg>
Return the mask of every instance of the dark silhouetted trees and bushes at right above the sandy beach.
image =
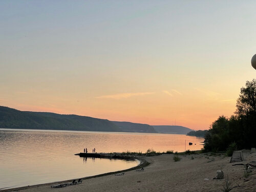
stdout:
<svg viewBox="0 0 256 192">
<path fill-rule="evenodd" d="M 237 100 L 236 115 L 220 116 L 205 135 L 204 151 L 256 147 L 256 80 L 246 82 Z"/>
</svg>

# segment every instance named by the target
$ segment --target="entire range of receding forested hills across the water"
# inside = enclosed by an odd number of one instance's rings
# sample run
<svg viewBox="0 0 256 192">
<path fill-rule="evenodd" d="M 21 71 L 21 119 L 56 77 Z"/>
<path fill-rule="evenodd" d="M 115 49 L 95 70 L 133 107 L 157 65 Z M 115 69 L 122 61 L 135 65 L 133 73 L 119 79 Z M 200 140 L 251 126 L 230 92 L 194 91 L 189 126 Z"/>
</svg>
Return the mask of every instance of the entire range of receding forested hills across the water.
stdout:
<svg viewBox="0 0 256 192">
<path fill-rule="evenodd" d="M 79 115 L 18 111 L 6 106 L 0 106 L 0 128 L 167 134 L 187 134 L 193 131 L 183 126 L 152 126 Z"/>
</svg>

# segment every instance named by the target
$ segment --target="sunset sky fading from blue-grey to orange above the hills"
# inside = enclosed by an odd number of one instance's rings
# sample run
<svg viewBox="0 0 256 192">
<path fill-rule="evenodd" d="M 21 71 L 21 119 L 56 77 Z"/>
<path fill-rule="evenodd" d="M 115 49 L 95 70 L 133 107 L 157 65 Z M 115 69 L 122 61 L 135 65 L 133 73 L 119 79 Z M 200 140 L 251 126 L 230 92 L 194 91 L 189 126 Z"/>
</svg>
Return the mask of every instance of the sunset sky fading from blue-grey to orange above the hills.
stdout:
<svg viewBox="0 0 256 192">
<path fill-rule="evenodd" d="M 0 105 L 209 129 L 256 78 L 255 1 L 0 1 Z"/>
</svg>

